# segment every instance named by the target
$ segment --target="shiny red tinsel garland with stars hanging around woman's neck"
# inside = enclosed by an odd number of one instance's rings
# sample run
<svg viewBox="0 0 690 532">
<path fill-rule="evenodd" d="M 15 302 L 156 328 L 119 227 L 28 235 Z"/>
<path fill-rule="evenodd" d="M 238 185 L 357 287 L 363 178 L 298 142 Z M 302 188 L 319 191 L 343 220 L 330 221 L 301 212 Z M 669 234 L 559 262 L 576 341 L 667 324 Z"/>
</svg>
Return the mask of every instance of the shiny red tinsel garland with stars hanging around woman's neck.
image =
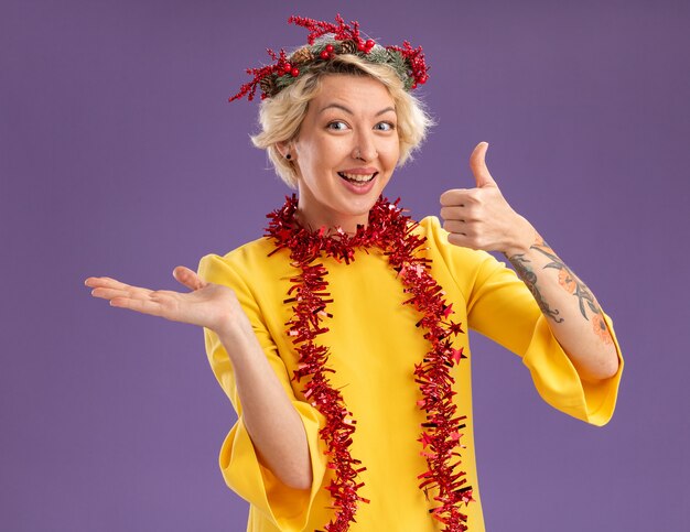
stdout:
<svg viewBox="0 0 690 532">
<path fill-rule="evenodd" d="M 304 398 L 326 420 L 320 436 L 328 447 L 328 467 L 335 470 L 335 478 L 326 489 L 331 491 L 336 510 L 335 518 L 325 525 L 328 532 L 347 531 L 349 523 L 355 522 L 357 501 L 369 501 L 357 495 L 364 486 L 357 481 L 357 476 L 366 467 L 349 453 L 357 422 L 327 378 L 327 372 L 335 371 L 326 367 L 328 348 L 315 343 L 317 335 L 328 330 L 322 322 L 332 317 L 326 307 L 333 302 L 326 291 L 327 270 L 319 259 L 325 253 L 349 263 L 355 260 L 357 248 L 369 247 L 384 250 L 389 264 L 398 272 L 403 291 L 411 295 L 403 304 L 413 305 L 421 314 L 417 327 L 425 330 L 424 338 L 431 345 L 422 362 L 414 365 L 414 382 L 422 395 L 417 405 L 427 413 L 418 442 L 422 444 L 421 455 L 427 459 L 428 470 L 418 476 L 422 480 L 419 488 L 428 499 L 429 489 L 438 490 L 433 499 L 439 506 L 429 512 L 445 524 L 444 531 L 467 530 L 467 515 L 460 511 L 460 506 L 473 500 L 472 487 L 466 486 L 465 473 L 456 471 L 462 462 L 459 448 L 464 447 L 460 444 L 460 431 L 466 426 L 466 416 L 456 415 L 452 400 L 454 379 L 450 373 L 453 365 L 465 358 L 462 349 L 453 348 L 451 335 L 463 330 L 460 324 L 449 319 L 452 304 L 445 303 L 443 290 L 429 273 L 431 260 L 416 257 L 427 239 L 413 234 L 418 224 L 402 215 L 398 202 L 391 204 L 380 197 L 369 213 L 368 226 L 358 226 L 354 236 L 341 229 L 327 234 L 325 228 L 314 232 L 300 226 L 294 217 L 298 208 L 294 195 L 287 198 L 283 207 L 267 215 L 271 221 L 266 236 L 276 243 L 270 254 L 289 249 L 292 265 L 301 272 L 290 280 L 293 284 L 285 303 L 293 304 L 294 314 L 285 325 L 300 356 L 293 380 L 300 382 L 311 377 L 303 389 Z"/>
</svg>

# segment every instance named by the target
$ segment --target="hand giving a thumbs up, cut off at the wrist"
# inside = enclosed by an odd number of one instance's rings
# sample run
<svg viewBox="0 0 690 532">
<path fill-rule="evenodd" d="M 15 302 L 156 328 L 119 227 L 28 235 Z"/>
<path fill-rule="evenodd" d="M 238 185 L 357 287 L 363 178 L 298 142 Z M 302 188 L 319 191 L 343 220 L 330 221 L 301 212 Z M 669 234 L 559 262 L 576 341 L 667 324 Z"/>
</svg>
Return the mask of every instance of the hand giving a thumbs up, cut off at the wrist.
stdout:
<svg viewBox="0 0 690 532">
<path fill-rule="evenodd" d="M 479 142 L 470 156 L 475 187 L 453 188 L 441 195 L 443 229 L 455 246 L 513 257 L 529 249 L 536 231 L 503 197 L 486 166 L 487 149 L 487 142 Z"/>
</svg>

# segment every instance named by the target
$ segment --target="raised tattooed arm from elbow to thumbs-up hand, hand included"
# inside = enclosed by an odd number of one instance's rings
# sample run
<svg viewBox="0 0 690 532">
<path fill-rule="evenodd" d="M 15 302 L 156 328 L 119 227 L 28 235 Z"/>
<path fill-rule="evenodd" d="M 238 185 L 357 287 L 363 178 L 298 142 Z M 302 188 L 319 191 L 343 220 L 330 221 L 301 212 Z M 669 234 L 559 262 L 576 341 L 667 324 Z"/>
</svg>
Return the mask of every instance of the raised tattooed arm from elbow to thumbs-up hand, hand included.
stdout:
<svg viewBox="0 0 690 532">
<path fill-rule="evenodd" d="M 614 376 L 618 357 L 594 294 L 506 202 L 486 167 L 487 148 L 481 142 L 470 159 L 476 187 L 441 195 L 449 242 L 502 251 L 535 296 L 578 373 L 593 381 Z"/>
</svg>

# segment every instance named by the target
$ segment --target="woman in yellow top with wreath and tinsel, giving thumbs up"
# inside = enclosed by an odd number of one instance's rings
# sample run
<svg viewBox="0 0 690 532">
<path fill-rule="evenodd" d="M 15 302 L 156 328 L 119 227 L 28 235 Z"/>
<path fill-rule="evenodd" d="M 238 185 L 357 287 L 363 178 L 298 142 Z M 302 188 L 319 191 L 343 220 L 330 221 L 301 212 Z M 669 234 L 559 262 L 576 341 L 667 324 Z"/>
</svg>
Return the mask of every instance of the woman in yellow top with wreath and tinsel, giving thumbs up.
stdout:
<svg viewBox="0 0 690 532">
<path fill-rule="evenodd" d="M 424 138 L 411 95 L 421 48 L 384 48 L 357 23 L 291 18 L 309 44 L 251 69 L 262 131 L 299 197 L 263 238 L 198 274 L 190 293 L 89 278 L 114 306 L 204 327 L 238 421 L 220 452 L 250 502 L 248 530 L 484 530 L 467 327 L 522 357 L 554 408 L 602 425 L 622 359 L 594 295 L 471 158 L 472 189 L 441 195 L 420 222 L 380 197 Z M 502 251 L 519 278 L 486 251 Z"/>
</svg>

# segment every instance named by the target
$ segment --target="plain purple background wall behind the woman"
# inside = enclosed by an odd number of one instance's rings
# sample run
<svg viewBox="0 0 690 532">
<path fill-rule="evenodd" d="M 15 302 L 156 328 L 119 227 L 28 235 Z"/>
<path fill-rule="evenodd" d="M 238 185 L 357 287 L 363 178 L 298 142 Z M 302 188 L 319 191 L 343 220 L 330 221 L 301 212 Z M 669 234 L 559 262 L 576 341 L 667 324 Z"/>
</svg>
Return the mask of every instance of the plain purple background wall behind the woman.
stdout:
<svg viewBox="0 0 690 532">
<path fill-rule="evenodd" d="M 155 289 L 256 238 L 287 193 L 226 104 L 291 13 L 328 2 L 0 6 L 0 529 L 240 531 L 217 467 L 231 405 L 202 332 L 90 297 Z M 680 531 L 688 518 L 690 8 L 672 1 L 354 1 L 384 43 L 422 44 L 438 119 L 388 195 L 412 214 L 488 165 L 595 291 L 626 356 L 604 428 L 550 409 L 475 337 L 490 531 Z M 686 273 L 683 273 L 686 272 Z"/>
</svg>

